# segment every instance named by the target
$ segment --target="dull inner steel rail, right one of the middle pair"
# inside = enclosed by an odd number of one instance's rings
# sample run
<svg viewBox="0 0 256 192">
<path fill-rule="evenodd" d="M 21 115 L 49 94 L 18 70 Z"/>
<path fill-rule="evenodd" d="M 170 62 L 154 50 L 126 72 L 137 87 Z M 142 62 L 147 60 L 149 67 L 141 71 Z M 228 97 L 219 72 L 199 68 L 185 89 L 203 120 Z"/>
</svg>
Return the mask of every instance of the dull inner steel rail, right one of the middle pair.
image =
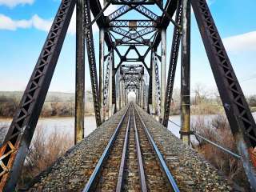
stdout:
<svg viewBox="0 0 256 192">
<path fill-rule="evenodd" d="M 139 180 L 140 180 L 140 185 L 141 185 L 141 191 L 146 192 L 147 191 L 146 177 L 145 177 L 144 166 L 143 166 L 143 162 L 142 162 L 142 151 L 141 151 L 140 142 L 138 139 L 138 130 L 137 130 L 137 126 L 136 126 L 134 110 L 133 110 L 133 116 L 134 116 L 135 143 L 136 143 L 136 153 L 137 153 L 137 161 L 138 161 Z"/>
</svg>

